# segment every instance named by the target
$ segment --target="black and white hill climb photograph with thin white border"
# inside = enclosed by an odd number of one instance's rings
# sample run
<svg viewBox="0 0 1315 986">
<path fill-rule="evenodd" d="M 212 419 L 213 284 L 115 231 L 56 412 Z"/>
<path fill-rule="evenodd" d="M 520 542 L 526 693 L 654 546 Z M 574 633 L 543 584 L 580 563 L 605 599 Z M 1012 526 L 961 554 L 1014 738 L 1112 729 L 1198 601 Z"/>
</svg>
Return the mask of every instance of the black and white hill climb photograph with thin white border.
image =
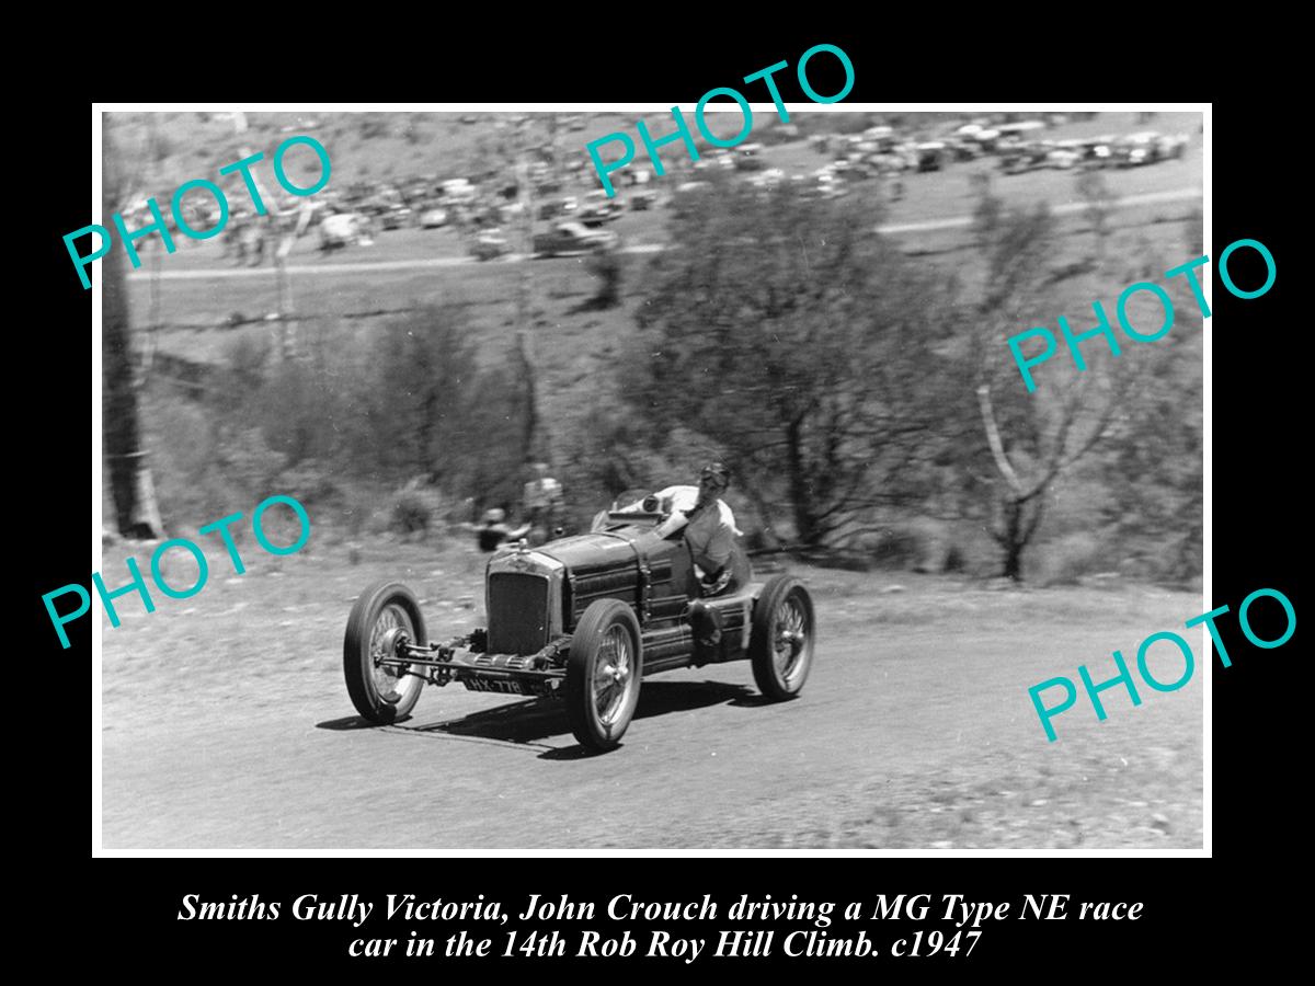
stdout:
<svg viewBox="0 0 1315 986">
<path fill-rule="evenodd" d="M 1208 104 L 742 92 L 97 106 L 97 852 L 1207 855 Z"/>
</svg>

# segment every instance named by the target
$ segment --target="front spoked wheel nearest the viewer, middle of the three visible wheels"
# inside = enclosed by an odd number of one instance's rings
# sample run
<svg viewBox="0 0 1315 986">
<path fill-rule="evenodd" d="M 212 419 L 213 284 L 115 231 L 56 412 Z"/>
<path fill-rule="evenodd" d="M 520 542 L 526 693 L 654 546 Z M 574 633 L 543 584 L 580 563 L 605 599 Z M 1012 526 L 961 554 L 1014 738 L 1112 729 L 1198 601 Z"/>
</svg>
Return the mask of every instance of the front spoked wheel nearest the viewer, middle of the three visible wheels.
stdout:
<svg viewBox="0 0 1315 986">
<path fill-rule="evenodd" d="M 567 719 L 580 745 L 614 749 L 639 703 L 643 652 L 639 621 L 621 599 L 596 599 L 571 638 Z"/>
</svg>

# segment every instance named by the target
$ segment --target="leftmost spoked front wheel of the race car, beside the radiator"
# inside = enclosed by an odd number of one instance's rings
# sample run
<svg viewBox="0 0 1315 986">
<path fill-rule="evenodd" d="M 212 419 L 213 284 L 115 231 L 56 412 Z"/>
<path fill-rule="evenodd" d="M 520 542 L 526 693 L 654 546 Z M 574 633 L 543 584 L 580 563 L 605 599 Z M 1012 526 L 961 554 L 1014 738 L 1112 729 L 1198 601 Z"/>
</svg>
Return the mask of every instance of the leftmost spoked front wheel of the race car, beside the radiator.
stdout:
<svg viewBox="0 0 1315 986">
<path fill-rule="evenodd" d="M 416 596 L 401 582 L 376 582 L 360 594 L 347 618 L 342 670 L 356 711 L 372 723 L 404 719 L 416 706 L 425 680 L 381 657 L 398 655 L 398 644 L 427 643 L 425 618 Z"/>
</svg>

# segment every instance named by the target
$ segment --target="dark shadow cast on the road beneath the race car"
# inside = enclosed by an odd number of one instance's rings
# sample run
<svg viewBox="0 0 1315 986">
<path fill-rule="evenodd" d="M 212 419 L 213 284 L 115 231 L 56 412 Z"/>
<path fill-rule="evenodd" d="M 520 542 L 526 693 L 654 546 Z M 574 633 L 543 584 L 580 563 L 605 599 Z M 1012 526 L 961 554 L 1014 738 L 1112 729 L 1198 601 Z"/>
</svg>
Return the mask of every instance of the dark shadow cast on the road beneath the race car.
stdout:
<svg viewBox="0 0 1315 986">
<path fill-rule="evenodd" d="M 639 690 L 639 706 L 635 719 L 648 719 L 669 713 L 705 709 L 713 705 L 743 705 L 752 693 L 744 685 L 730 685 L 721 681 L 646 681 Z M 352 719 L 321 723 L 321 728 L 356 728 Z M 342 723 L 342 724 L 338 724 Z M 575 760 L 584 753 L 575 745 L 550 747 L 544 751 L 539 740 L 571 740 L 571 723 L 563 703 L 551 698 L 533 698 L 526 702 L 512 702 L 497 709 L 485 709 L 458 719 L 416 723 L 410 720 L 398 726 L 416 734 L 446 734 L 468 736 L 502 743 L 525 744 L 543 751 L 546 760 Z M 631 727 L 634 728 L 634 727 Z"/>
</svg>

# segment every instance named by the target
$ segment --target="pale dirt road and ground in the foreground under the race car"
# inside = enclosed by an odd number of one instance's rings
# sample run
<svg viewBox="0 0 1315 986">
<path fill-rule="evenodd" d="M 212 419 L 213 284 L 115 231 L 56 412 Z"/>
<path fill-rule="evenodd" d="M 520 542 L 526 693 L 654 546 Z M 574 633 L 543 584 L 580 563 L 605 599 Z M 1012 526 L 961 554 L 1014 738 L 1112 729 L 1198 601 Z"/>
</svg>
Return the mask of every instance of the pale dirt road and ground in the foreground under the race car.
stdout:
<svg viewBox="0 0 1315 986">
<path fill-rule="evenodd" d="M 1105 723 L 1078 705 L 1056 743 L 1027 695 L 1084 661 L 1101 680 L 1193 596 L 801 569 L 819 644 L 797 701 L 763 703 L 743 663 L 656 676 L 623 745 L 586 757 L 550 701 L 459 686 L 362 727 L 341 672 L 355 593 L 400 576 L 444 636 L 480 619 L 481 556 L 346 552 L 252 552 L 246 576 L 105 623 L 107 849 L 1201 844 L 1199 672 L 1136 709 L 1106 693 Z"/>
</svg>

